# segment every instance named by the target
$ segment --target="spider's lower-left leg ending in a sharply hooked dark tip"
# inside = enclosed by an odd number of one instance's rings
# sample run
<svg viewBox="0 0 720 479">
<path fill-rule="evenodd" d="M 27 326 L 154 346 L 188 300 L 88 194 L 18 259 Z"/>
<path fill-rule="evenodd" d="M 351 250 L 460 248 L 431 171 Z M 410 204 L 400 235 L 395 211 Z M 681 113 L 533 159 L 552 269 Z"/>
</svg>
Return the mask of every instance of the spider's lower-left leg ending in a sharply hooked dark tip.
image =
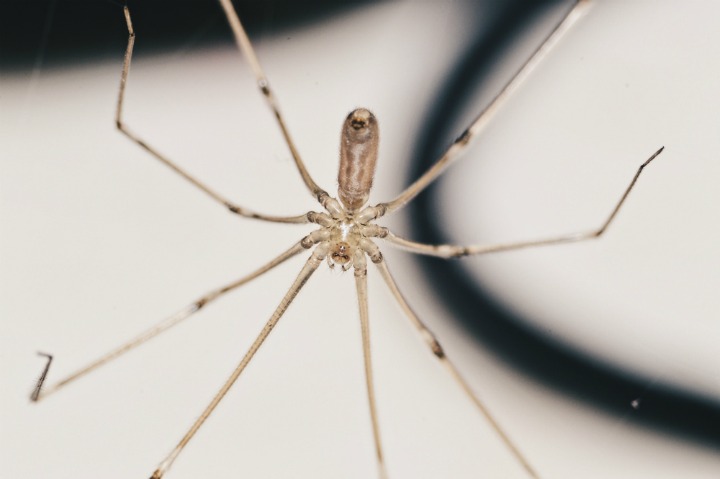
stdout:
<svg viewBox="0 0 720 479">
<path fill-rule="evenodd" d="M 75 371 L 74 373 L 70 374 L 69 376 L 65 377 L 64 379 L 62 379 L 62 380 L 58 381 L 57 383 L 53 384 L 52 386 L 46 388 L 45 390 L 41 390 L 42 383 L 44 382 L 45 376 L 47 375 L 47 369 L 50 366 L 50 364 L 48 363 L 44 373 L 42 374 L 40 380 L 38 381 L 38 385 L 35 387 L 33 394 L 30 396 L 30 399 L 32 401 L 39 401 L 40 399 L 44 399 L 45 397 L 49 396 L 50 394 L 58 391 L 63 386 L 66 386 L 67 384 L 75 381 L 76 379 L 79 379 L 82 376 L 85 376 L 89 372 L 99 368 L 100 366 L 102 366 L 104 364 L 109 363 L 113 359 L 127 353 L 128 351 L 135 349 L 136 347 L 140 346 L 141 344 L 145 343 L 146 341 L 149 341 L 150 339 L 159 335 L 163 331 L 167 331 L 168 329 L 172 328 L 173 326 L 177 326 L 182 321 L 189 318 L 194 313 L 198 312 L 201 308 L 203 308 L 208 303 L 218 299 L 219 297 L 223 296 L 225 293 L 228 293 L 228 292 L 232 291 L 233 289 L 239 288 L 240 286 L 244 285 L 245 283 L 252 281 L 253 279 L 260 276 L 261 274 L 266 273 L 267 271 L 270 271 L 271 269 L 273 269 L 275 266 L 279 265 L 280 263 L 283 263 L 284 261 L 299 254 L 301 251 L 304 251 L 304 249 L 305 248 L 303 248 L 300 245 L 300 243 L 293 245 L 292 248 L 285 251 L 284 253 L 282 253 L 280 256 L 273 259 L 269 263 L 263 265 L 262 267 L 258 268 L 255 271 L 253 271 L 249 275 L 243 276 L 242 278 L 238 279 L 237 281 L 227 284 L 221 288 L 210 291 L 209 293 L 203 295 L 202 297 L 193 301 L 189 305 L 185 306 L 183 309 L 176 312 L 172 316 L 165 318 L 164 320 L 162 320 L 158 324 L 154 325 L 153 327 L 149 328 L 148 330 L 143 331 L 141 334 L 137 335 L 130 341 L 122 344 L 121 346 L 118 346 L 117 348 L 113 349 L 109 353 L 101 356 L 100 358 L 96 359 L 95 361 L 91 362 L 90 364 L 86 365 L 85 367 L 80 368 L 79 370 Z"/>
</svg>

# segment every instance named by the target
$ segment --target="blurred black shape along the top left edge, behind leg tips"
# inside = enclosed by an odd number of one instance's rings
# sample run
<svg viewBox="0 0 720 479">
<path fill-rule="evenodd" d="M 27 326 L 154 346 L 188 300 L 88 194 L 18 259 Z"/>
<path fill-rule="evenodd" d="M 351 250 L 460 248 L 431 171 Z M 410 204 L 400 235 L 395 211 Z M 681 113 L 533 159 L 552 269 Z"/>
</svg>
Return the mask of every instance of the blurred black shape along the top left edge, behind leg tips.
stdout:
<svg viewBox="0 0 720 479">
<path fill-rule="evenodd" d="M 364 6 L 370 0 L 233 0 L 252 35 L 282 32 Z M 127 3 L 142 54 L 178 46 L 231 42 L 217 0 L 14 0 L 0 11 L 0 68 L 67 66 L 73 62 L 117 59 L 125 50 Z"/>
</svg>

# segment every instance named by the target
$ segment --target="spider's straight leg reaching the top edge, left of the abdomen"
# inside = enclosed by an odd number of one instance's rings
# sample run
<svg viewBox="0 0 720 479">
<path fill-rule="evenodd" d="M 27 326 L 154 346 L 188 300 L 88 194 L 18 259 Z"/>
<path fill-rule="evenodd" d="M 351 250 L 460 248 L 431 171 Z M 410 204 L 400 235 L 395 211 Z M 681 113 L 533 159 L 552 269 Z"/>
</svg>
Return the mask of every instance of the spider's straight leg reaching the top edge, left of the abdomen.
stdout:
<svg viewBox="0 0 720 479">
<path fill-rule="evenodd" d="M 305 168 L 305 163 L 303 163 L 302 158 L 300 158 L 300 153 L 297 151 L 297 148 L 295 148 L 295 143 L 292 141 L 290 132 L 285 125 L 285 120 L 280 113 L 280 108 L 277 100 L 275 99 L 275 95 L 270 89 L 270 82 L 268 82 L 265 72 L 260 66 L 260 61 L 258 60 L 257 55 L 255 55 L 255 49 L 253 48 L 252 43 L 250 43 L 250 38 L 248 38 L 247 33 L 245 32 L 245 28 L 243 28 L 242 23 L 240 23 L 240 18 L 238 17 L 232 2 L 230 0 L 220 0 L 220 5 L 222 5 L 223 10 L 225 11 L 225 16 L 227 17 L 230 28 L 235 36 L 235 43 L 242 54 L 245 55 L 248 63 L 250 63 L 250 67 L 257 79 L 257 86 L 275 115 L 278 126 L 280 126 L 280 130 L 285 138 L 285 143 L 287 143 L 287 146 L 290 149 L 290 153 L 295 160 L 295 166 L 297 166 L 300 176 L 302 176 L 303 182 L 305 182 L 305 186 L 308 187 L 310 193 L 312 193 L 318 201 L 321 201 L 321 198 L 323 196 L 328 196 L 328 194 L 325 190 L 320 188 L 315 181 L 313 181 L 310 173 L 307 171 L 307 168 Z"/>
</svg>

